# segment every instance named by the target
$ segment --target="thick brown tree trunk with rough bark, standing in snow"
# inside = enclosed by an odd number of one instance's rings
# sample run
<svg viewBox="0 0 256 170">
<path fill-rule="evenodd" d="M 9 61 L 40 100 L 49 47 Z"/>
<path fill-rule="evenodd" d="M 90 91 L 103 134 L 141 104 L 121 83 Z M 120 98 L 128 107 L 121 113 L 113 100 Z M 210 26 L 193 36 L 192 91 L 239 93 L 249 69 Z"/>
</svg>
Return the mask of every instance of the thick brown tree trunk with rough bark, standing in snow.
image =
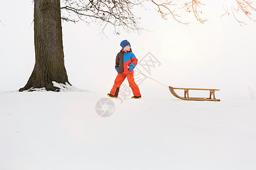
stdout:
<svg viewBox="0 0 256 170">
<path fill-rule="evenodd" d="M 64 66 L 60 0 L 34 1 L 34 41 L 35 67 L 26 86 L 19 91 L 43 87 L 58 91 L 52 81 L 70 84 Z"/>
</svg>

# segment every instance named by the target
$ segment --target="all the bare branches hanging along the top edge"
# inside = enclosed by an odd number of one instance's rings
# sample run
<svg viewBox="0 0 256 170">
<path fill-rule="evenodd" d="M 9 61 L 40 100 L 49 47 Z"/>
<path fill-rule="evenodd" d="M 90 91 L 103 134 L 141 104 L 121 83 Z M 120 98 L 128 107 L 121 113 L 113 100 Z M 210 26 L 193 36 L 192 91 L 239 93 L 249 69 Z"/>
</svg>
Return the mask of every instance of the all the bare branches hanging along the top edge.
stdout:
<svg viewBox="0 0 256 170">
<path fill-rule="evenodd" d="M 174 0 L 175 1 L 175 0 Z M 236 2 L 236 7 L 226 3 L 230 0 L 224 0 L 225 14 L 232 14 L 234 18 L 240 23 L 245 24 L 237 17 L 238 12 L 246 15 L 249 20 L 256 22 L 251 16 L 256 9 L 250 0 L 231 0 Z M 143 28 L 140 26 L 140 19 L 134 15 L 133 8 L 135 6 L 143 6 L 143 3 L 150 2 L 156 7 L 163 19 L 168 19 L 171 16 L 178 23 L 189 24 L 183 22 L 179 15 L 179 9 L 185 9 L 186 12 L 193 14 L 200 23 L 204 24 L 207 19 L 202 19 L 202 11 L 200 8 L 204 6 L 200 0 L 186 0 L 181 7 L 178 7 L 171 0 L 61 0 L 61 19 L 76 23 L 82 20 L 88 24 L 94 23 L 101 27 L 102 33 L 108 25 L 114 27 L 114 33 L 119 33 L 119 29 L 123 28 L 125 31 L 141 31 Z M 177 1 L 179 2 L 179 1 Z M 178 13 L 179 12 L 179 13 Z"/>
</svg>

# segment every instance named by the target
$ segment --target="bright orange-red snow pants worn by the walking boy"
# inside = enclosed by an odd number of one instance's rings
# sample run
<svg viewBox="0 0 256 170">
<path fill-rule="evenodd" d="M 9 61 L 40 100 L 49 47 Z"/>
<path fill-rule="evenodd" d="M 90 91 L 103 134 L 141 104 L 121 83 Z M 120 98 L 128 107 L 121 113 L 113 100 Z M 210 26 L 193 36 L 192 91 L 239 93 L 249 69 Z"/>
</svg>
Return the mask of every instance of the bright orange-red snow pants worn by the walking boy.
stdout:
<svg viewBox="0 0 256 170">
<path fill-rule="evenodd" d="M 119 88 L 126 77 L 129 82 L 129 86 L 131 87 L 131 90 L 133 90 L 133 95 L 141 96 L 141 92 L 139 92 L 139 87 L 134 82 L 133 74 L 117 74 L 117 78 L 115 78 L 114 86 L 110 91 L 110 94 L 112 94 L 113 96 L 118 96 Z"/>
</svg>

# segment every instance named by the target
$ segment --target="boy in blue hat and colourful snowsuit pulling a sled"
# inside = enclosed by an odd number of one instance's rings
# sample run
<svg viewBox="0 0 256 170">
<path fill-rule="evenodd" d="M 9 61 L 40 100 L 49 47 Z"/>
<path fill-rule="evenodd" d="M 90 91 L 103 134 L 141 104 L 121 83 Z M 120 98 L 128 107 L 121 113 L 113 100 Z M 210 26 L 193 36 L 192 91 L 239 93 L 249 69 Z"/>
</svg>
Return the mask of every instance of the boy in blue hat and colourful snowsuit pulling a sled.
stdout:
<svg viewBox="0 0 256 170">
<path fill-rule="evenodd" d="M 127 77 L 129 86 L 131 87 L 131 90 L 133 90 L 134 95 L 131 99 L 141 99 L 141 92 L 139 92 L 139 87 L 134 82 L 133 78 L 133 69 L 137 65 L 138 59 L 135 57 L 133 52 L 131 52 L 131 45 L 129 41 L 123 40 L 120 45 L 122 46 L 122 49 L 115 59 L 115 70 L 117 70 L 118 74 L 117 78 L 115 78 L 114 86 L 108 96 L 117 98 L 119 88 L 123 80 Z"/>
</svg>

